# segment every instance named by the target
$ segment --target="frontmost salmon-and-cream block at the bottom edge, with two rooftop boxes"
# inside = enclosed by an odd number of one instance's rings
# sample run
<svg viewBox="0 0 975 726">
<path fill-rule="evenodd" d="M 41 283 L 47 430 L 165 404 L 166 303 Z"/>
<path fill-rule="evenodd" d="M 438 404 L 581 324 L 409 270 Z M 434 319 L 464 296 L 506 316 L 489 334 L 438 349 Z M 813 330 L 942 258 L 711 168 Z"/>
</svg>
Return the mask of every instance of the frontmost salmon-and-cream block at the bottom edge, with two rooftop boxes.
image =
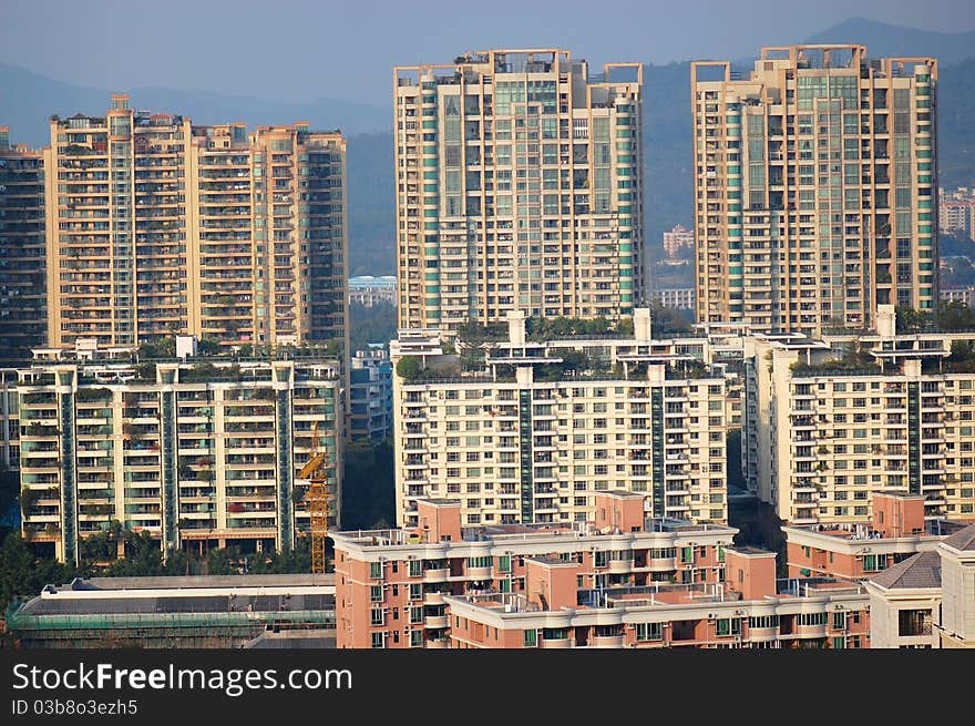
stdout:
<svg viewBox="0 0 975 726">
<path fill-rule="evenodd" d="M 451 647 L 869 647 L 859 584 L 776 580 L 773 552 L 725 550 L 723 583 L 578 586 L 576 563 L 526 560 L 526 589 L 448 596 Z"/>
</svg>

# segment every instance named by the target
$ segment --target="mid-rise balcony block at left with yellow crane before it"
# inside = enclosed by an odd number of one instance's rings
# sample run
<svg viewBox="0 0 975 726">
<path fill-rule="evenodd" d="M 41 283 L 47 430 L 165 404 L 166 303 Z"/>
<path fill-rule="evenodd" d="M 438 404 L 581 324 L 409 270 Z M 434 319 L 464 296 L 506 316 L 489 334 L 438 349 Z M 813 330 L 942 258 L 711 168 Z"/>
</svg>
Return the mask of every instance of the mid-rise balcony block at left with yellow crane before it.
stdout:
<svg viewBox="0 0 975 726">
<path fill-rule="evenodd" d="M 22 530 L 74 562 L 111 528 L 170 546 L 288 549 L 309 526 L 312 427 L 339 522 L 335 361 L 38 362 L 18 371 Z"/>
</svg>

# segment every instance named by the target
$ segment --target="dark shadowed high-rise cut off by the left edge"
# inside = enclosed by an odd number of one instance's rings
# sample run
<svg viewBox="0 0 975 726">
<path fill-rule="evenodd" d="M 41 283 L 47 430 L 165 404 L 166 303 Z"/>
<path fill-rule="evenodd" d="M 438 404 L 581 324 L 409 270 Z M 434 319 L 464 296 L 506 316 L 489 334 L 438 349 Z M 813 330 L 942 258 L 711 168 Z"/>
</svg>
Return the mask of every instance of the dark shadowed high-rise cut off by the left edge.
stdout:
<svg viewBox="0 0 975 726">
<path fill-rule="evenodd" d="M 48 326 L 44 156 L 0 126 L 0 360 L 30 359 Z"/>
</svg>

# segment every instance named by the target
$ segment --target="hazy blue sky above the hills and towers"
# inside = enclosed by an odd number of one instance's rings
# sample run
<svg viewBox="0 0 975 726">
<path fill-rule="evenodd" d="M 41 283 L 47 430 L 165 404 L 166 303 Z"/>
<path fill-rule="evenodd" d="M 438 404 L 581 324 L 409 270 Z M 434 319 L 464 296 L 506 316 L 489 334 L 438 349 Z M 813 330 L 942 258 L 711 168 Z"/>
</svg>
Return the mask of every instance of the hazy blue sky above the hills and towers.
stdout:
<svg viewBox="0 0 975 726">
<path fill-rule="evenodd" d="M 0 61 L 98 88 L 386 105 L 391 68 L 465 50 L 608 61 L 741 58 L 851 16 L 959 32 L 964 0 L 0 0 Z"/>
</svg>

